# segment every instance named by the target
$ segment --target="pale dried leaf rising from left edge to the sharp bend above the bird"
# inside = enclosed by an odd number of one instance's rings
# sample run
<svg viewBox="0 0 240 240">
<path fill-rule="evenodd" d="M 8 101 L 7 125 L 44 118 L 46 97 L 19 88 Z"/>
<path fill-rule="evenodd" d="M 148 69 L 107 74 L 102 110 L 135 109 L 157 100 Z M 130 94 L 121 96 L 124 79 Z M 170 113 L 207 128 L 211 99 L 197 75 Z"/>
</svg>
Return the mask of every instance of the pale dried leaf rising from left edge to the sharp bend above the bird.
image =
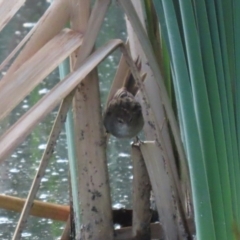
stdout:
<svg viewBox="0 0 240 240">
<path fill-rule="evenodd" d="M 89 72 L 115 48 L 123 44 L 112 40 L 89 56 L 81 67 L 59 82 L 0 138 L 0 163 L 31 133 L 33 128 L 65 98 Z"/>
</svg>

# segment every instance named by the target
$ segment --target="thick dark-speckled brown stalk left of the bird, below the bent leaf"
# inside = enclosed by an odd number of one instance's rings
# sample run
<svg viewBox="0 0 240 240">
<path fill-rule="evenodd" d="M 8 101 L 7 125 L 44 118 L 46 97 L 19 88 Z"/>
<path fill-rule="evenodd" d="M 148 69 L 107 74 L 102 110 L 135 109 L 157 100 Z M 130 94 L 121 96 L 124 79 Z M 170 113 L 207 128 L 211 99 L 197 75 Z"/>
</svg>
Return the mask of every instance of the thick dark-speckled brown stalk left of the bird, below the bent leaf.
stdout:
<svg viewBox="0 0 240 240">
<path fill-rule="evenodd" d="M 112 207 L 107 171 L 100 92 L 96 71 L 78 87 L 73 107 L 78 157 L 81 237 L 113 239 Z M 75 103 L 78 103 L 77 105 Z M 85 228 L 84 226 L 88 226 Z M 91 236 L 91 237 L 90 237 Z"/>
</svg>

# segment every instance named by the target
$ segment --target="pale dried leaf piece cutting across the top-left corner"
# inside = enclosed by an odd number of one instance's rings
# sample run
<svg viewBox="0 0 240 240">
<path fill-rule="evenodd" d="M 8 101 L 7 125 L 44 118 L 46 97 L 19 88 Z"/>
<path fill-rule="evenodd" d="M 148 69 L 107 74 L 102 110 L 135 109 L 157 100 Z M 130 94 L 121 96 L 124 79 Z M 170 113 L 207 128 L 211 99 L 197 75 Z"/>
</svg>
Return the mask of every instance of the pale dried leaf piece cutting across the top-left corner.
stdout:
<svg viewBox="0 0 240 240">
<path fill-rule="evenodd" d="M 12 19 L 14 14 L 24 4 L 25 0 L 2 0 L 0 1 L 0 31 Z"/>
</svg>

